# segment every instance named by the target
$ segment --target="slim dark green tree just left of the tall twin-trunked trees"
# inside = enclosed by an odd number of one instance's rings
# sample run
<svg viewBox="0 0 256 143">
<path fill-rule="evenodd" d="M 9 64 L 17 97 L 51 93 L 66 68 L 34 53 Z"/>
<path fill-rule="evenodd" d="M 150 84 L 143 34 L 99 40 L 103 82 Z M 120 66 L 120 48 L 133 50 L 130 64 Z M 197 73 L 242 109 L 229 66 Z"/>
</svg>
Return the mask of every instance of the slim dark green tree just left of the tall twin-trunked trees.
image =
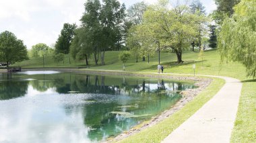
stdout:
<svg viewBox="0 0 256 143">
<path fill-rule="evenodd" d="M 61 35 L 59 35 L 59 38 L 55 44 L 55 50 L 57 53 L 69 54 L 69 48 L 73 37 L 75 36 L 76 28 L 77 26 L 75 23 L 64 23 L 63 29 L 61 30 Z"/>
</svg>

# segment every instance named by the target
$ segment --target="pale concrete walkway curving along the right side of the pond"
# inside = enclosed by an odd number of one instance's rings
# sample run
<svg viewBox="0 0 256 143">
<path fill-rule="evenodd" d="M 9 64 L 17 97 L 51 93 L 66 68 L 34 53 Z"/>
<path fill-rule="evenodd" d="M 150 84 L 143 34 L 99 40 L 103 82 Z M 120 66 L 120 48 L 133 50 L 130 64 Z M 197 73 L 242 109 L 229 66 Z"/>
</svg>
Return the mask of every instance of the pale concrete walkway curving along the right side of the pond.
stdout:
<svg viewBox="0 0 256 143">
<path fill-rule="evenodd" d="M 226 80 L 222 89 L 167 136 L 162 141 L 163 143 L 230 142 L 243 84 L 230 77 L 218 78 Z"/>
</svg>

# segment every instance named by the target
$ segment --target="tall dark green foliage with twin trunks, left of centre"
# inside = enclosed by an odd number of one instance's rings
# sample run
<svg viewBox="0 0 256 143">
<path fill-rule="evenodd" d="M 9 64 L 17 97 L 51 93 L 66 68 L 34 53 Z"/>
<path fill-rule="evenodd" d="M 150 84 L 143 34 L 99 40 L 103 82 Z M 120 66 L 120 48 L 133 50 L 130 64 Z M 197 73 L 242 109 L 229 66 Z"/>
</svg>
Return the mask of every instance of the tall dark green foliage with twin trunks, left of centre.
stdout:
<svg viewBox="0 0 256 143">
<path fill-rule="evenodd" d="M 121 48 L 125 34 L 123 23 L 125 18 L 125 5 L 117 0 L 87 1 L 85 13 L 81 19 L 82 28 L 88 34 L 86 44 L 94 54 L 95 63 L 98 64 L 100 54 L 101 64 L 104 64 L 104 53 L 107 50 Z"/>
</svg>

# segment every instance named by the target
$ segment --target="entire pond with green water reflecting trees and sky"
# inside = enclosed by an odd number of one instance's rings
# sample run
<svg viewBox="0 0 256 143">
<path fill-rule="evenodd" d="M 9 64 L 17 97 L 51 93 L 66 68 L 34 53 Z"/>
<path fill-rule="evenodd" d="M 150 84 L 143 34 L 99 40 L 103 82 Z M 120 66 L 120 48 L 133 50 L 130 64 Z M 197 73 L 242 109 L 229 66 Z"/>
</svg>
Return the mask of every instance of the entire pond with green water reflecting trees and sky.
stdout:
<svg viewBox="0 0 256 143">
<path fill-rule="evenodd" d="M 100 142 L 195 88 L 166 79 L 25 72 L 0 75 L 0 142 Z"/>
</svg>

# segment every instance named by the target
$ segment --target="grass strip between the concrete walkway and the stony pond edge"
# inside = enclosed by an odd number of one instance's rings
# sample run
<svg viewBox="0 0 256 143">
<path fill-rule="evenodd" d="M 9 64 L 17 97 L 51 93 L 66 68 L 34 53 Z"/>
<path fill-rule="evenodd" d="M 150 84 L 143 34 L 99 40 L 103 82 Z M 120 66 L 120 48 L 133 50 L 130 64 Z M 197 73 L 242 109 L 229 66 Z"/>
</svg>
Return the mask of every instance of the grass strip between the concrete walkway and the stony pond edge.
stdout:
<svg viewBox="0 0 256 143">
<path fill-rule="evenodd" d="M 170 134 L 174 129 L 178 128 L 185 120 L 187 120 L 195 111 L 197 111 L 203 104 L 211 99 L 219 89 L 224 85 L 222 79 L 214 79 L 205 91 L 202 91 L 193 101 L 187 103 L 183 109 L 177 111 L 166 120 L 146 128 L 134 136 L 125 138 L 120 142 L 161 142 Z"/>
</svg>

